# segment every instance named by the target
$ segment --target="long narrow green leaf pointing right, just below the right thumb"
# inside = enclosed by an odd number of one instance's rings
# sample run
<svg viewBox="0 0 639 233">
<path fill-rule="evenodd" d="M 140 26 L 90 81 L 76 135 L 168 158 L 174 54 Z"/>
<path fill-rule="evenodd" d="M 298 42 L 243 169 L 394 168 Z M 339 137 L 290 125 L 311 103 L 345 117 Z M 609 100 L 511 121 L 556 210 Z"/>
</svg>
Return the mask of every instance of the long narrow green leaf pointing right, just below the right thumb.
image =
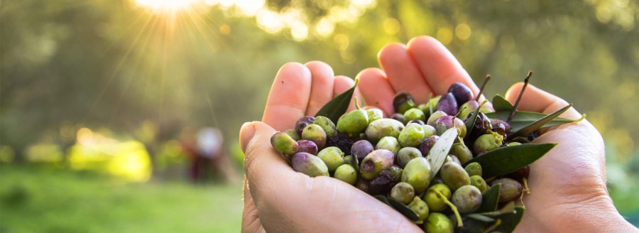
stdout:
<svg viewBox="0 0 639 233">
<path fill-rule="evenodd" d="M 503 121 L 507 121 L 509 114 L 510 114 L 510 110 L 489 112 L 486 114 L 486 116 L 488 116 L 488 118 L 490 119 L 502 119 Z M 540 119 L 543 119 L 545 116 L 548 116 L 548 114 L 543 114 L 539 112 L 517 111 L 515 112 L 513 119 L 510 120 L 510 128 L 511 128 L 510 131 L 511 132 L 520 131 L 526 126 L 529 126 L 531 124 L 534 124 L 537 121 L 540 121 Z M 582 119 L 585 119 L 585 117 L 586 115 L 581 116 L 580 119 L 574 119 L 574 120 L 566 119 L 562 117 L 556 117 L 555 119 L 552 119 L 551 121 L 548 121 L 547 123 L 543 124 L 543 126 L 540 128 L 559 126 L 562 124 L 569 124 L 572 122 L 581 121 Z"/>
</svg>

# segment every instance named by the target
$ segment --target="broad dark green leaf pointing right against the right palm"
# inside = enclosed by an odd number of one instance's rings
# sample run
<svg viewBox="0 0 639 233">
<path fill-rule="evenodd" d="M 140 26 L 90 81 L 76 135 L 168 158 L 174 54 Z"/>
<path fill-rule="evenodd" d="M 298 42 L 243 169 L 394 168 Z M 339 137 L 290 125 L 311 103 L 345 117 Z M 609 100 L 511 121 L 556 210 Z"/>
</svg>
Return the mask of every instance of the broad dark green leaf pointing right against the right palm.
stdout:
<svg viewBox="0 0 639 233">
<path fill-rule="evenodd" d="M 537 161 L 555 146 L 557 143 L 526 143 L 517 146 L 504 146 L 467 161 L 464 167 L 469 163 L 477 162 L 481 165 L 484 178 L 506 175 Z"/>
</svg>

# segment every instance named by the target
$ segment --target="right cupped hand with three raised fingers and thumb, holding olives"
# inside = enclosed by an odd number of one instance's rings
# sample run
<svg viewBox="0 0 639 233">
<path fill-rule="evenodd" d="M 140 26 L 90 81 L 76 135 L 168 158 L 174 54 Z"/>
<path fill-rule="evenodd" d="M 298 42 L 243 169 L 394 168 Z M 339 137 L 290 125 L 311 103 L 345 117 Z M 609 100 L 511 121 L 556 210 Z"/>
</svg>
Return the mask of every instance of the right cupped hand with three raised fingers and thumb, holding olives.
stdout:
<svg viewBox="0 0 639 233">
<path fill-rule="evenodd" d="M 462 82 L 476 95 L 479 88 L 451 53 L 434 38 L 418 37 L 408 45 L 391 44 L 379 55 L 383 70 L 369 68 L 362 71 L 361 94 L 390 114 L 393 95 L 406 91 L 417 104 L 433 96 L 444 94 L 453 82 Z M 522 83 L 510 87 L 506 98 L 515 102 Z M 375 87 L 375 88 L 367 88 Z M 529 85 L 518 109 L 552 113 L 567 102 Z M 578 119 L 575 109 L 562 117 Z M 530 166 L 525 195 L 526 212 L 518 232 L 611 232 L 637 230 L 618 214 L 606 189 L 605 155 L 599 132 L 588 121 L 567 124 L 545 131 L 533 143 L 559 143 L 539 161 Z"/>
</svg>

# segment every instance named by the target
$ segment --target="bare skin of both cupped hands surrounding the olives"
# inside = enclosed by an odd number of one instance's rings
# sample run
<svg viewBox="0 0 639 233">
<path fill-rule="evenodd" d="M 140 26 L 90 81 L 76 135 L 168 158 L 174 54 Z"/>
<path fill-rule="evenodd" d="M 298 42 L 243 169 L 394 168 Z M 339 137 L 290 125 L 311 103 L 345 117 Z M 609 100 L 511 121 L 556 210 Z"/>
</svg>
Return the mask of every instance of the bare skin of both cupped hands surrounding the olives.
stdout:
<svg viewBox="0 0 639 233">
<path fill-rule="evenodd" d="M 393 112 L 393 95 L 399 91 L 413 94 L 416 104 L 426 102 L 429 92 L 446 92 L 453 82 L 463 82 L 474 94 L 479 92 L 452 53 L 434 38 L 422 36 L 408 45 L 387 45 L 378 57 L 382 69 L 359 73 L 361 89 L 356 96 L 386 116 Z M 351 185 L 296 173 L 271 148 L 273 132 L 292 128 L 301 116 L 315 114 L 334 93 L 352 85 L 353 80 L 334 77 L 332 69 L 321 62 L 288 63 L 280 68 L 262 121 L 244 124 L 240 132 L 246 154 L 243 232 L 422 232 L 391 207 Z M 517 98 L 521 85 L 508 90 L 510 102 Z M 550 113 L 566 104 L 528 85 L 519 109 Z M 562 116 L 576 119 L 581 115 L 569 109 Z M 517 231 L 638 232 L 618 214 L 606 190 L 599 132 L 584 120 L 543 133 L 535 143 L 559 145 L 530 166 L 531 193 L 524 197 L 527 210 Z M 358 224 L 334 224 L 346 220 Z"/>
</svg>

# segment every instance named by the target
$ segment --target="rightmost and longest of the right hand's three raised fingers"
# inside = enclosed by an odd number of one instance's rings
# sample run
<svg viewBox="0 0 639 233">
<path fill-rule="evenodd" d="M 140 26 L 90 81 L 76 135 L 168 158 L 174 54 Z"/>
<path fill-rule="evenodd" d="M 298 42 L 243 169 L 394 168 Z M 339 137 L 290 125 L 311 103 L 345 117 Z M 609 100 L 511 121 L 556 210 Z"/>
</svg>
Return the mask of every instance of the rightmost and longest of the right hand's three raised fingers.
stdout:
<svg viewBox="0 0 639 233">
<path fill-rule="evenodd" d="M 461 67 L 450 51 L 430 36 L 420 36 L 408 42 L 408 53 L 435 94 L 445 94 L 454 82 L 470 87 L 474 96 L 479 93 L 468 72 Z"/>
</svg>

